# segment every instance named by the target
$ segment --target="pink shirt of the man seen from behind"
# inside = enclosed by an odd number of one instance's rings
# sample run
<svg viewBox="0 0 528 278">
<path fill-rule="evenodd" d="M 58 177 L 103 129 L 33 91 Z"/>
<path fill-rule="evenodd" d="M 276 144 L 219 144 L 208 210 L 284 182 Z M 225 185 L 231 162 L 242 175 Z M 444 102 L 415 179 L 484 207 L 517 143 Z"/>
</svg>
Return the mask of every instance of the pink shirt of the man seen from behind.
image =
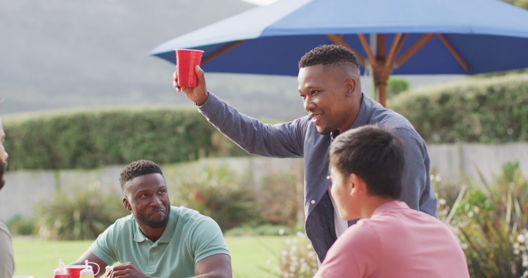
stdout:
<svg viewBox="0 0 528 278">
<path fill-rule="evenodd" d="M 349 227 L 317 275 L 324 278 L 469 278 L 466 257 L 449 228 L 400 201 Z M 316 276 L 317 276 L 316 275 Z"/>
</svg>

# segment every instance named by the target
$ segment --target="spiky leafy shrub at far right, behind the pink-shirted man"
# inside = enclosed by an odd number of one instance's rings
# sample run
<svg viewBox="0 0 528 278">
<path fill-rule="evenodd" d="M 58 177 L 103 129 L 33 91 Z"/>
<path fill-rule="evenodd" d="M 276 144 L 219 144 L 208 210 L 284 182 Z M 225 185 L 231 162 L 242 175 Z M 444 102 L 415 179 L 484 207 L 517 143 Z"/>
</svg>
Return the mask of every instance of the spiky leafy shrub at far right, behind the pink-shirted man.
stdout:
<svg viewBox="0 0 528 278">
<path fill-rule="evenodd" d="M 505 164 L 493 183 L 482 180 L 485 190 L 463 185 L 452 203 L 441 195 L 445 191 L 437 191 L 439 217 L 458 236 L 472 277 L 528 275 L 523 249 L 528 207 L 521 203 L 528 184 L 518 163 Z"/>
</svg>

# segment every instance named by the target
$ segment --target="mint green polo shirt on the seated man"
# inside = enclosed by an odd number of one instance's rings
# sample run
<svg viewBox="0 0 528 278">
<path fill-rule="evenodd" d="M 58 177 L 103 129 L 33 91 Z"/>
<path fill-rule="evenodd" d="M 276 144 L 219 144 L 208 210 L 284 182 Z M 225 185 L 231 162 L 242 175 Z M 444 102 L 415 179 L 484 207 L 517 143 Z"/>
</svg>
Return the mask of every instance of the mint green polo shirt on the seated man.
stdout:
<svg viewBox="0 0 528 278">
<path fill-rule="evenodd" d="M 131 262 L 153 277 L 191 277 L 194 265 L 214 254 L 228 254 L 220 227 L 208 216 L 171 206 L 162 236 L 150 241 L 133 215 L 118 219 L 89 249 L 108 265 Z"/>
</svg>

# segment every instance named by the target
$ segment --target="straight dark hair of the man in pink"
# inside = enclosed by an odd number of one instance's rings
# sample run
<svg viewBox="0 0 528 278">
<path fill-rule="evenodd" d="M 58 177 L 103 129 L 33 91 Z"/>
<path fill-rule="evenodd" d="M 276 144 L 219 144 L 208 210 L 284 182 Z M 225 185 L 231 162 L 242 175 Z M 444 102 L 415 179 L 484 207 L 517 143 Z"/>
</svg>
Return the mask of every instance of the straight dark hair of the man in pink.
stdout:
<svg viewBox="0 0 528 278">
<path fill-rule="evenodd" d="M 401 195 L 404 166 L 403 143 L 378 125 L 347 131 L 330 147 L 330 165 L 344 176 L 356 174 L 371 195 Z"/>
</svg>

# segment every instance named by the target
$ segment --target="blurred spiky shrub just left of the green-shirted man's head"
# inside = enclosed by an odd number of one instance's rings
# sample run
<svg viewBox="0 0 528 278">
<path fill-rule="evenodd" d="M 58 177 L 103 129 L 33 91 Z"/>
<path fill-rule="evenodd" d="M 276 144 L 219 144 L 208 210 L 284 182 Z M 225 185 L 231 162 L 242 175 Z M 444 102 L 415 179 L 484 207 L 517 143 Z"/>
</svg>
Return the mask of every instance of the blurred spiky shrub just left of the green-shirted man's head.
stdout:
<svg viewBox="0 0 528 278">
<path fill-rule="evenodd" d="M 39 235 L 52 240 L 91 240 L 129 212 L 117 193 L 96 187 L 72 196 L 57 194 L 36 206 Z"/>
</svg>

